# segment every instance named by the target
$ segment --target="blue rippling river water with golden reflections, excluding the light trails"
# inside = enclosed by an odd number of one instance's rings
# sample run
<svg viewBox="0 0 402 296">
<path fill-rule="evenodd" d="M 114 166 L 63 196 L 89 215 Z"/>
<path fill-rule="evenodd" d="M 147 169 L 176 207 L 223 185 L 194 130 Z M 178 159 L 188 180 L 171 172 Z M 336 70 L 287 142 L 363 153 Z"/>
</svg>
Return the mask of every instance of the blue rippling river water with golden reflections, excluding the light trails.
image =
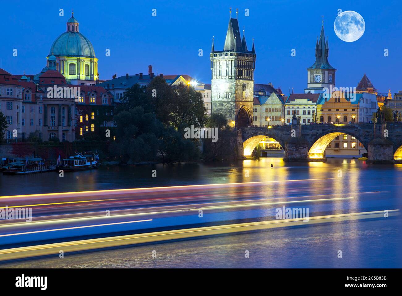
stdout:
<svg viewBox="0 0 402 296">
<path fill-rule="evenodd" d="M 271 168 L 273 164 L 273 168 Z M 152 171 L 156 170 L 156 177 Z M 369 165 L 355 159 L 286 163 L 279 158 L 196 164 L 100 166 L 98 170 L 0 176 L 0 196 L 99 189 L 323 179 L 295 195 L 350 194 L 348 202 L 316 205 L 325 215 L 400 209 L 402 165 Z M 294 188 L 292 190 L 295 190 Z M 289 188 L 283 188 L 283 194 Z M 361 194 L 369 193 L 369 194 Z M 290 193 L 291 194 L 291 193 Z M 267 193 L 269 195 L 269 193 Z M 306 225 L 194 240 L 180 240 L 2 267 L 402 267 L 401 219 L 367 219 Z M 156 250 L 157 257 L 152 257 Z M 250 253 L 245 258 L 245 251 Z M 339 258 L 338 251 L 343 256 Z"/>
</svg>

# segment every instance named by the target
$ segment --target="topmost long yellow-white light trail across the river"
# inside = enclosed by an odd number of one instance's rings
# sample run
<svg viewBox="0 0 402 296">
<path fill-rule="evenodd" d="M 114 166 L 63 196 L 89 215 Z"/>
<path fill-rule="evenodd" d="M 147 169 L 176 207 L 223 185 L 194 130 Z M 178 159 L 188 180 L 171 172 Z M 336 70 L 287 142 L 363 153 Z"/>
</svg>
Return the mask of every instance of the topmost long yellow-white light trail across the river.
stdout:
<svg viewBox="0 0 402 296">
<path fill-rule="evenodd" d="M 46 196 L 59 196 L 59 195 L 78 195 L 88 193 L 124 193 L 128 191 L 138 190 L 159 190 L 159 189 L 186 189 L 195 187 L 213 187 L 213 186 L 234 186 L 234 185 L 257 185 L 257 184 L 269 184 L 277 182 L 303 182 L 303 181 L 320 181 L 320 180 L 332 180 L 334 178 L 319 178 L 319 179 L 299 179 L 299 180 L 275 180 L 275 181 L 260 181 L 260 182 L 238 182 L 238 183 L 218 183 L 218 184 L 199 184 L 199 185 L 184 185 L 184 186 L 164 186 L 164 187 L 146 187 L 146 188 L 127 188 L 127 189 L 109 189 L 109 190 L 91 190 L 91 191 L 76 191 L 76 192 L 59 192 L 59 193 L 39 193 L 28 195 L 8 195 L 0 197 L 0 199 L 8 199 L 15 197 L 42 197 Z"/>
</svg>

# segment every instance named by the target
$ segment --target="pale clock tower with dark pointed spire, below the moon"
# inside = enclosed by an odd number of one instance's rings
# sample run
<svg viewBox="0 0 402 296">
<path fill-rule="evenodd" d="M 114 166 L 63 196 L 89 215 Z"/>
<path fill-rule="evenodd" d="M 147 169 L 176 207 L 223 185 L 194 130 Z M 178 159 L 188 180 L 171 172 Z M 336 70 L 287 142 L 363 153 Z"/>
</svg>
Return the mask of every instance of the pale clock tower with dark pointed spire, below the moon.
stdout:
<svg viewBox="0 0 402 296">
<path fill-rule="evenodd" d="M 325 40 L 324 21 L 322 21 L 320 40 L 316 42 L 316 62 L 307 68 L 307 88 L 304 93 L 323 93 L 324 88 L 335 87 L 336 69 L 328 62 L 328 37 Z"/>
</svg>

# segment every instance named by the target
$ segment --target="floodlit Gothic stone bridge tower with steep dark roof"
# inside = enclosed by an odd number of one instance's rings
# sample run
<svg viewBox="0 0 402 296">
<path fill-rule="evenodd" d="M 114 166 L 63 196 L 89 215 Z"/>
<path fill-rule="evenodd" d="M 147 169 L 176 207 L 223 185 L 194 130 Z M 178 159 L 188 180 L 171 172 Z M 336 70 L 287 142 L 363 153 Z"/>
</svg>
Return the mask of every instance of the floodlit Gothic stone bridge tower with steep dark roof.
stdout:
<svg viewBox="0 0 402 296">
<path fill-rule="evenodd" d="M 237 128 L 252 124 L 255 49 L 248 51 L 246 38 L 240 37 L 237 19 L 230 18 L 224 50 L 211 48 L 211 112 L 224 114 Z"/>
</svg>

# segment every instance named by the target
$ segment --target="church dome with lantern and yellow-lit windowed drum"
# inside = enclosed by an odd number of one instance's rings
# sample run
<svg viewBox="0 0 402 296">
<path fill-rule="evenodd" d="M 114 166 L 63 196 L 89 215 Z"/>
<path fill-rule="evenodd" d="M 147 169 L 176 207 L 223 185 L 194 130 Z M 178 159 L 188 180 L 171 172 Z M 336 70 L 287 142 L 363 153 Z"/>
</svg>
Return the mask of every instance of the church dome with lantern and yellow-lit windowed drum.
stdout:
<svg viewBox="0 0 402 296">
<path fill-rule="evenodd" d="M 95 85 L 98 79 L 98 59 L 92 43 L 80 33 L 74 12 L 67 21 L 67 30 L 53 42 L 47 56 L 57 59 L 56 70 L 74 85 Z"/>
</svg>

